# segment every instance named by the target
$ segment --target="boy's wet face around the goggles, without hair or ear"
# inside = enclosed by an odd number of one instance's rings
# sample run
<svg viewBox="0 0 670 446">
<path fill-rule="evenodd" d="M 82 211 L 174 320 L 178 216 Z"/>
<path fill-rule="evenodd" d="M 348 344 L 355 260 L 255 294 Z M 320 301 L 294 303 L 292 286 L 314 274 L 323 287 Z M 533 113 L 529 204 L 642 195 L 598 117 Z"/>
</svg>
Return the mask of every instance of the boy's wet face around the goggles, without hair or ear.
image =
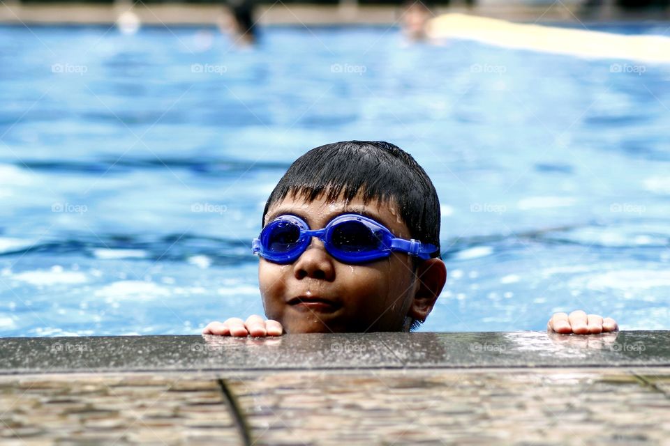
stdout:
<svg viewBox="0 0 670 446">
<path fill-rule="evenodd" d="M 364 204 L 360 197 L 349 203 L 325 199 L 304 203 L 287 197 L 269 208 L 264 224 L 290 214 L 310 229 L 321 229 L 344 213 L 364 214 L 396 237 L 410 239 L 393 203 Z M 349 265 L 328 254 L 317 238 L 293 263 L 278 265 L 261 258 L 258 279 L 266 316 L 289 333 L 403 330 L 418 286 L 408 254 Z"/>
</svg>

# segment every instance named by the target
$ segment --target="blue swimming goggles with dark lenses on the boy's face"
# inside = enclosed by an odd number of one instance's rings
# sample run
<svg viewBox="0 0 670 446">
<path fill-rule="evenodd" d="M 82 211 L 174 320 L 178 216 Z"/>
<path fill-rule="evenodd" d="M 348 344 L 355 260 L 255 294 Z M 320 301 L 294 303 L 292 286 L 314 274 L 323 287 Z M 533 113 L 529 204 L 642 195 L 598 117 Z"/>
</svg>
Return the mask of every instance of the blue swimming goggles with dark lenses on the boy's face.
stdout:
<svg viewBox="0 0 670 446">
<path fill-rule="evenodd" d="M 293 263 L 311 244 L 312 237 L 321 240 L 327 252 L 343 263 L 385 259 L 394 251 L 426 260 L 438 249 L 419 240 L 396 238 L 384 226 L 362 215 L 344 214 L 315 231 L 295 215 L 281 215 L 263 228 L 251 250 L 273 263 Z"/>
</svg>

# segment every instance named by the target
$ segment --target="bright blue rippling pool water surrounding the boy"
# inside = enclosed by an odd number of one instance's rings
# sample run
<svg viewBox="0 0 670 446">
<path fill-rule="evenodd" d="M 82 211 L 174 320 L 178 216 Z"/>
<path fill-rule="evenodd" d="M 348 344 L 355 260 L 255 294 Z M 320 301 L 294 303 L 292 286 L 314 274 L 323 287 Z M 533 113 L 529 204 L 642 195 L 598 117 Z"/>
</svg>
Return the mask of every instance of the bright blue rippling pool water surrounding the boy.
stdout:
<svg viewBox="0 0 670 446">
<path fill-rule="evenodd" d="M 613 26 L 663 33 L 666 26 Z M 262 312 L 249 242 L 290 162 L 385 139 L 442 202 L 422 330 L 555 311 L 670 328 L 670 67 L 398 29 L 0 27 L 0 335 L 189 334 Z"/>
</svg>

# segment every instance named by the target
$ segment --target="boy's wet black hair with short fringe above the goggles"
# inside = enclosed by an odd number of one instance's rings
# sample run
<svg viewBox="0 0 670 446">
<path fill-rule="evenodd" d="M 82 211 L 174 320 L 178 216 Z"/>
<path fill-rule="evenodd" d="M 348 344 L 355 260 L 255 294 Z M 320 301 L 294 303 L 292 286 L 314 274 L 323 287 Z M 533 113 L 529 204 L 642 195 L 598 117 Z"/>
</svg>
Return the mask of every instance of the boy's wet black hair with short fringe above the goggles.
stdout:
<svg viewBox="0 0 670 446">
<path fill-rule="evenodd" d="M 410 236 L 435 245 L 438 249 L 431 254 L 440 256 L 440 201 L 435 187 L 412 155 L 385 141 L 336 142 L 299 157 L 267 199 L 262 224 L 270 206 L 289 195 L 309 203 L 321 196 L 350 201 L 359 193 L 365 203 L 396 203 Z"/>
</svg>

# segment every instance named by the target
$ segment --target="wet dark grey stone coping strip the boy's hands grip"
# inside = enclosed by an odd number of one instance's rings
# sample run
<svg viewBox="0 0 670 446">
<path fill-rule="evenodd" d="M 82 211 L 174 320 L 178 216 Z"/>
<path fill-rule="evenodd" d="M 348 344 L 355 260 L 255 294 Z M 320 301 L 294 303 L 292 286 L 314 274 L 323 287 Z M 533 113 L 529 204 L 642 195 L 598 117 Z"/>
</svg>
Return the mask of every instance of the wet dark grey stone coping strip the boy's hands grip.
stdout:
<svg viewBox="0 0 670 446">
<path fill-rule="evenodd" d="M 0 374 L 63 371 L 670 366 L 670 332 L 0 339 Z"/>
</svg>

